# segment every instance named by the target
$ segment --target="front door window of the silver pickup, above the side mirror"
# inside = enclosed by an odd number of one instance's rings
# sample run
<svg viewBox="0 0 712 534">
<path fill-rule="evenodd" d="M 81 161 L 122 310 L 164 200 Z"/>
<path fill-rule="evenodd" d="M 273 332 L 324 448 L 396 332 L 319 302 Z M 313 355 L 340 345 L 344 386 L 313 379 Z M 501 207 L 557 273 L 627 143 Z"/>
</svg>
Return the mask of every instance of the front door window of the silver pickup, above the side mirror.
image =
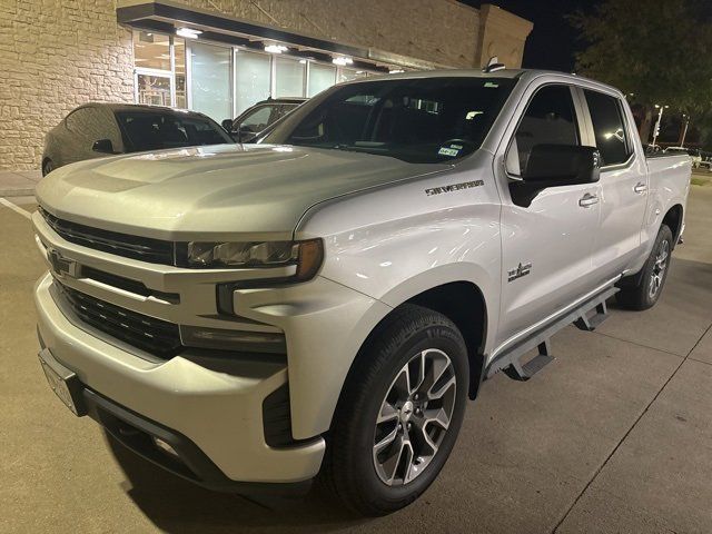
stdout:
<svg viewBox="0 0 712 534">
<path fill-rule="evenodd" d="M 507 172 L 526 174 L 536 145 L 580 145 L 576 112 L 567 86 L 546 86 L 530 102 L 507 152 Z"/>
</svg>

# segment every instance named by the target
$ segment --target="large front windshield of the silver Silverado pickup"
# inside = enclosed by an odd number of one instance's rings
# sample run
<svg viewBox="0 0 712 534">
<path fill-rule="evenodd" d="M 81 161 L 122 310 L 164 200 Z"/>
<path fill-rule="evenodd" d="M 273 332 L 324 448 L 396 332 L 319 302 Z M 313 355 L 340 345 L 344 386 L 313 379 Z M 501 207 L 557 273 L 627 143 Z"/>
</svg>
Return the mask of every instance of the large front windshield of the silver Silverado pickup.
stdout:
<svg viewBox="0 0 712 534">
<path fill-rule="evenodd" d="M 263 142 L 411 162 L 454 160 L 479 148 L 514 83 L 437 77 L 337 86 L 290 113 Z"/>
</svg>

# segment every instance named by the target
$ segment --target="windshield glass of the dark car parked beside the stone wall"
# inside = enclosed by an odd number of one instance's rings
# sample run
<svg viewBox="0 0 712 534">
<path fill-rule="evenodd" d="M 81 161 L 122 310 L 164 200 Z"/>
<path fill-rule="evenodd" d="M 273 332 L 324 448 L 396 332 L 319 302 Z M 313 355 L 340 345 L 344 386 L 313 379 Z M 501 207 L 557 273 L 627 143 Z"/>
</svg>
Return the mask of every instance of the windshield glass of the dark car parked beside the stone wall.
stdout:
<svg viewBox="0 0 712 534">
<path fill-rule="evenodd" d="M 208 118 L 150 111 L 117 111 L 132 151 L 234 142 Z"/>
</svg>

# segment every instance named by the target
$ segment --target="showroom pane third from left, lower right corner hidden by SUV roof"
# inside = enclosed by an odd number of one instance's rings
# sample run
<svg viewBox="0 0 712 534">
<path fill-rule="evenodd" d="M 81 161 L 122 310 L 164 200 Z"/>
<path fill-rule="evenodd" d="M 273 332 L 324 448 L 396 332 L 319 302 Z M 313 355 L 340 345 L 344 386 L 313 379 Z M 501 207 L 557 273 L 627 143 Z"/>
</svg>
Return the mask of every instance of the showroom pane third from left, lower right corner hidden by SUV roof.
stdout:
<svg viewBox="0 0 712 534">
<path fill-rule="evenodd" d="M 271 57 L 268 53 L 235 50 L 235 107 L 240 115 L 266 100 L 271 92 Z"/>
</svg>

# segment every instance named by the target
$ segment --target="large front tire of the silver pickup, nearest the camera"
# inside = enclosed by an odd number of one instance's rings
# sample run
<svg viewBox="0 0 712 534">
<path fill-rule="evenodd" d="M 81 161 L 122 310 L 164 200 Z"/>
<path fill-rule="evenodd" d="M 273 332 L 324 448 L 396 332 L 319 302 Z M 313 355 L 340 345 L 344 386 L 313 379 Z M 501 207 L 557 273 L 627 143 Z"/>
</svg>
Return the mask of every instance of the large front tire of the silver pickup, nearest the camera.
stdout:
<svg viewBox="0 0 712 534">
<path fill-rule="evenodd" d="M 442 354 L 446 355 L 446 359 Z M 427 358 L 433 358 L 429 372 Z M 428 393 L 421 394 L 421 399 L 413 402 L 419 404 L 415 406 L 411 404 L 407 409 L 406 405 L 409 400 L 402 404 L 402 409 L 397 411 L 398 415 L 395 419 L 396 426 L 400 425 L 400 429 L 393 431 L 403 434 L 406 432 L 404 428 L 407 427 L 406 437 L 411 439 L 408 447 L 412 462 L 405 469 L 406 473 L 416 474 L 411 481 L 407 481 L 409 475 L 404 475 L 398 481 L 400 485 L 396 481 L 389 485 L 382 478 L 383 465 L 377 464 L 376 459 L 377 453 L 374 445 L 379 432 L 376 428 L 376 418 L 389 403 L 387 395 L 398 388 L 397 380 L 406 374 L 411 376 L 411 367 L 405 366 L 417 366 L 421 360 L 422 369 L 425 370 L 419 370 L 421 367 L 417 367 L 414 376 L 423 377 L 419 384 L 423 384 L 423 387 L 429 387 Z M 413 364 L 413 362 L 417 363 Z M 435 379 L 435 375 L 443 368 L 446 370 L 441 375 L 441 379 Z M 415 501 L 441 472 L 455 444 L 467 402 L 468 373 L 465 342 L 453 322 L 442 314 L 421 306 L 404 305 L 397 308 L 365 344 L 346 379 L 332 428 L 326 436 L 327 449 L 319 476 L 325 488 L 347 507 L 363 515 L 385 515 Z M 443 379 L 442 377 L 446 374 L 447 376 Z M 445 383 L 452 383 L 451 376 L 455 379 L 454 392 L 451 390 L 452 385 L 443 386 Z M 439 393 L 441 389 L 447 392 L 446 400 L 443 400 L 445 395 L 439 399 L 423 400 L 424 397 L 432 398 L 431 393 Z M 418 397 L 417 392 L 414 395 L 415 398 Z M 397 406 L 398 403 L 394 402 L 393 406 Z M 432 418 L 423 423 L 428 417 L 427 414 L 432 415 L 438 409 L 438 405 L 443 406 L 442 412 L 452 411 L 446 429 L 433 425 Z M 390 404 L 388 406 L 393 407 Z M 407 411 L 409 411 L 408 418 L 404 418 Z M 390 422 L 380 423 L 380 425 L 385 424 Z M 422 428 L 428 429 L 422 431 Z M 429 437 L 433 442 L 439 439 L 439 444 L 434 449 L 429 449 L 427 463 L 421 463 L 423 456 L 415 453 L 418 449 L 417 444 L 424 444 L 423 436 L 426 432 L 433 432 L 437 437 Z M 387 432 L 387 434 L 393 433 Z M 399 445 L 396 441 L 389 447 L 397 448 Z M 404 451 L 402 446 L 400 451 Z M 408 464 L 407 452 L 405 454 L 404 464 Z M 397 459 L 394 478 L 399 464 L 400 461 Z M 377 465 L 380 465 L 380 474 Z M 418 469 L 419 465 L 424 467 Z"/>
</svg>

